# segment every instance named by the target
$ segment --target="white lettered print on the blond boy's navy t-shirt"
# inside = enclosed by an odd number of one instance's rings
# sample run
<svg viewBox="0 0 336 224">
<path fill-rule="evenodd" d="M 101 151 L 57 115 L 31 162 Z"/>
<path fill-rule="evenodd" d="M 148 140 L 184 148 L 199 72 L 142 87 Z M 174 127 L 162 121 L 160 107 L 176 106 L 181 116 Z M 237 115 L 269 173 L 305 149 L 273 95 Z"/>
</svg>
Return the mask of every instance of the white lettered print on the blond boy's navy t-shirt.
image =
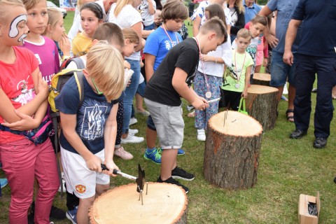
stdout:
<svg viewBox="0 0 336 224">
<path fill-rule="evenodd" d="M 89 102 L 92 101 L 92 102 Z M 78 116 L 79 123 L 81 124 L 80 137 L 87 140 L 94 140 L 97 138 L 104 137 L 104 124 L 105 124 L 105 113 L 108 106 L 99 105 L 98 102 L 94 103 L 94 99 L 86 99 L 85 102 L 94 106 L 83 106 L 83 116 Z"/>
</svg>

